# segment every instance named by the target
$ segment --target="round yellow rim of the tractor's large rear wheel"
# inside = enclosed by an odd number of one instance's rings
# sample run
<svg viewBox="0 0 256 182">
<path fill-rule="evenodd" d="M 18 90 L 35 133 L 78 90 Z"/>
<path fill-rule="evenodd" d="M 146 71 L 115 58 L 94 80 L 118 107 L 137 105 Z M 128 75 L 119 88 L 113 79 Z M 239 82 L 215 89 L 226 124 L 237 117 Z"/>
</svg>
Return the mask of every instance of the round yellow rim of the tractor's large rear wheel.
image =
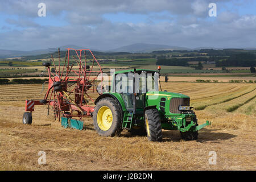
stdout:
<svg viewBox="0 0 256 182">
<path fill-rule="evenodd" d="M 110 129 L 113 122 L 112 111 L 108 106 L 102 106 L 98 110 L 97 123 L 101 130 L 107 131 Z"/>
</svg>

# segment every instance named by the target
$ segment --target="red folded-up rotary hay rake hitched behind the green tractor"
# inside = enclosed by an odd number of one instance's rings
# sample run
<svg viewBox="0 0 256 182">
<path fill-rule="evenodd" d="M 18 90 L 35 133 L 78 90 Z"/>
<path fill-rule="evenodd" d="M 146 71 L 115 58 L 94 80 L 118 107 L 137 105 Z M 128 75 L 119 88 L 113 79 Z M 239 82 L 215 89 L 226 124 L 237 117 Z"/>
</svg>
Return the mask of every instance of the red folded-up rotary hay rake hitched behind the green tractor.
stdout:
<svg viewBox="0 0 256 182">
<path fill-rule="evenodd" d="M 94 106 L 89 105 L 89 103 L 94 103 L 94 100 L 90 95 L 101 94 L 97 91 L 97 80 L 101 81 L 100 86 L 102 88 L 102 68 L 100 64 L 90 49 L 67 48 L 64 64 L 61 68 L 59 48 L 58 53 L 59 65 L 55 64 L 53 55 L 51 55 L 52 69 L 50 69 L 51 63 L 43 63 L 43 66 L 48 70 L 49 80 L 46 81 L 48 82 L 48 90 L 43 100 L 26 101 L 26 111 L 30 112 L 24 113 L 24 124 L 31 124 L 34 105 L 48 105 L 48 115 L 49 107 L 52 106 L 54 117 L 59 121 L 61 115 L 64 118 L 79 117 L 80 119 L 92 116 Z M 90 63 L 88 58 L 92 59 Z M 101 76 L 97 79 L 99 75 Z"/>
</svg>

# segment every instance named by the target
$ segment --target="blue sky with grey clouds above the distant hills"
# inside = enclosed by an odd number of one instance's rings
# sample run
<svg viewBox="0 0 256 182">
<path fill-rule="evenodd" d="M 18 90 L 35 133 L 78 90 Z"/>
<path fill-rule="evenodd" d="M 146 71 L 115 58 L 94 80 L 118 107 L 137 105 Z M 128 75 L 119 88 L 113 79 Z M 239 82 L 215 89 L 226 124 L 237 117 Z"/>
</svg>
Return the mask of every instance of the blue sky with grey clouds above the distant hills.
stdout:
<svg viewBox="0 0 256 182">
<path fill-rule="evenodd" d="M 46 17 L 38 16 L 38 3 Z M 209 3 L 217 17 L 209 17 Z M 108 50 L 133 43 L 170 46 L 256 47 L 256 1 L 5 1 L 0 49 L 31 50 L 66 44 Z"/>
</svg>

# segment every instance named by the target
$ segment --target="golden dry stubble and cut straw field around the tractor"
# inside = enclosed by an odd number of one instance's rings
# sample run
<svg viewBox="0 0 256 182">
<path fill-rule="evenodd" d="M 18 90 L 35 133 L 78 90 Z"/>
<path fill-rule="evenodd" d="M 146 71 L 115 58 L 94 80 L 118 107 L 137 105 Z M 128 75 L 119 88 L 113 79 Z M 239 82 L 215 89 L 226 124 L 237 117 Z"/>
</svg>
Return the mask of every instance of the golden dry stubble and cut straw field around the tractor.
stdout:
<svg viewBox="0 0 256 182">
<path fill-rule="evenodd" d="M 250 92 L 255 84 L 163 83 L 163 89 L 191 96 L 191 103 L 225 100 L 229 95 Z M 196 111 L 199 123 L 212 125 L 199 131 L 199 140 L 180 140 L 177 131 L 163 130 L 163 142 L 146 137 L 99 137 L 92 119 L 84 130 L 63 129 L 47 115 L 46 106 L 36 106 L 31 126 L 22 124 L 24 100 L 41 99 L 42 85 L 0 86 L 0 170 L 255 170 L 255 98 L 226 112 L 232 105 L 255 95 L 255 91 L 225 103 Z M 201 98 L 200 98 L 201 97 Z M 223 98 L 222 98 L 223 97 Z M 230 96 L 231 97 L 231 96 Z M 240 99 L 238 99 L 240 98 Z M 248 109 L 251 108 L 251 109 Z M 247 111 L 249 110 L 249 112 Z M 217 165 L 209 165 L 209 151 L 217 152 Z M 46 152 L 46 165 L 38 164 L 38 152 Z"/>
</svg>

